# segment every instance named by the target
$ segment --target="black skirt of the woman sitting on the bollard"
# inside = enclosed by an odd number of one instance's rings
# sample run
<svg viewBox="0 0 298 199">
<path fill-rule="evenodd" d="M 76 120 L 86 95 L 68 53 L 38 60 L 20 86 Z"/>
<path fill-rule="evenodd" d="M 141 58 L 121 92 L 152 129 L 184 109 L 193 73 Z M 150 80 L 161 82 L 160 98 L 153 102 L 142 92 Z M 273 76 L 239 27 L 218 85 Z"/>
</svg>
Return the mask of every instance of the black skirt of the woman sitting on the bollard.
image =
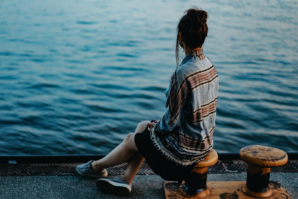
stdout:
<svg viewBox="0 0 298 199">
<path fill-rule="evenodd" d="M 153 145 L 148 126 L 142 133 L 136 133 L 134 142 L 136 143 L 139 153 L 145 158 L 152 171 L 164 180 L 182 183 L 191 169 L 197 164 L 194 163 L 192 165 L 182 166 L 166 158 L 162 152 Z"/>
</svg>

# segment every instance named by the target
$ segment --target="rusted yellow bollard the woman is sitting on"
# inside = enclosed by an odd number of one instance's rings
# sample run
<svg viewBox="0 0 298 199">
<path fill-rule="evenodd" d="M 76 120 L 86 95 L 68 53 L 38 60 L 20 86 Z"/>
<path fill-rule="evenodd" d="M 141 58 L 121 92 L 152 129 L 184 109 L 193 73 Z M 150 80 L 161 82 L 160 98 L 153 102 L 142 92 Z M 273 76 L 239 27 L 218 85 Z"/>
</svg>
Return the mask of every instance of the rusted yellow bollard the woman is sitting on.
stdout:
<svg viewBox="0 0 298 199">
<path fill-rule="evenodd" d="M 190 175 L 184 180 L 182 194 L 187 197 L 204 198 L 210 194 L 207 183 L 207 169 L 218 161 L 218 154 L 211 149 L 206 157 L 198 162 L 191 170 Z"/>
</svg>

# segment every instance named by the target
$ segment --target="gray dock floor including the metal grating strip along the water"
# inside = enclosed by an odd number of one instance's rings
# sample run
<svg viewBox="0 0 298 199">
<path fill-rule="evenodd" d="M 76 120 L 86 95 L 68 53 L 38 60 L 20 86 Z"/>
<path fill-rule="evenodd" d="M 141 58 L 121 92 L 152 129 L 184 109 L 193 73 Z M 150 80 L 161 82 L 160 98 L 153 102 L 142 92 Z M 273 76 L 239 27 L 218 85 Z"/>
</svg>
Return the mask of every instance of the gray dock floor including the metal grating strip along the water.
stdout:
<svg viewBox="0 0 298 199">
<path fill-rule="evenodd" d="M 108 195 L 95 186 L 97 179 L 78 175 L 80 163 L 1 163 L 0 198 L 164 198 L 163 183 L 143 163 L 133 181 L 129 196 Z M 298 161 L 289 160 L 280 168 L 272 168 L 270 181 L 278 181 L 292 199 L 298 199 Z M 126 163 L 108 168 L 109 178 L 121 177 Z M 246 163 L 241 160 L 218 161 L 209 167 L 207 181 L 246 181 Z"/>
</svg>

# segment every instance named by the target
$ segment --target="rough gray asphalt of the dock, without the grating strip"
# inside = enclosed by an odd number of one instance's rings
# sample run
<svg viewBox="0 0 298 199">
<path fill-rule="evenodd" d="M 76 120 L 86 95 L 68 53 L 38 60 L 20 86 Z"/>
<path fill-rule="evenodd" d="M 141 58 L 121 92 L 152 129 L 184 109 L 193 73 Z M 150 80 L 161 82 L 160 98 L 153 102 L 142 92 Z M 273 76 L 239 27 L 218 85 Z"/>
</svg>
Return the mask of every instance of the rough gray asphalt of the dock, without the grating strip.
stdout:
<svg viewBox="0 0 298 199">
<path fill-rule="evenodd" d="M 117 178 L 120 175 L 109 176 Z M 208 181 L 245 181 L 246 173 L 208 174 Z M 298 172 L 271 172 L 270 180 L 279 181 L 292 199 L 298 199 Z M 162 199 L 164 180 L 158 175 L 136 175 L 129 196 L 108 195 L 95 186 L 96 179 L 67 176 L 0 176 L 0 198 L 142 198 Z"/>
</svg>

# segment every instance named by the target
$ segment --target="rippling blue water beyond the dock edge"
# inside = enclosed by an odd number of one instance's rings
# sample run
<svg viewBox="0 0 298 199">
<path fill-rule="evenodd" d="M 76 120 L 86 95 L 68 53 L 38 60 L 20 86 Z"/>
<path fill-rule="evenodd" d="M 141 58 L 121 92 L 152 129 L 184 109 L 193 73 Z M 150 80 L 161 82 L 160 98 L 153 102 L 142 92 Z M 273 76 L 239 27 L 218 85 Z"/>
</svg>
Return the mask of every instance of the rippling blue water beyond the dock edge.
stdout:
<svg viewBox="0 0 298 199">
<path fill-rule="evenodd" d="M 298 2 L 2 0 L 0 155 L 106 154 L 164 114 L 184 10 L 209 13 L 214 148 L 298 152 Z"/>
</svg>

